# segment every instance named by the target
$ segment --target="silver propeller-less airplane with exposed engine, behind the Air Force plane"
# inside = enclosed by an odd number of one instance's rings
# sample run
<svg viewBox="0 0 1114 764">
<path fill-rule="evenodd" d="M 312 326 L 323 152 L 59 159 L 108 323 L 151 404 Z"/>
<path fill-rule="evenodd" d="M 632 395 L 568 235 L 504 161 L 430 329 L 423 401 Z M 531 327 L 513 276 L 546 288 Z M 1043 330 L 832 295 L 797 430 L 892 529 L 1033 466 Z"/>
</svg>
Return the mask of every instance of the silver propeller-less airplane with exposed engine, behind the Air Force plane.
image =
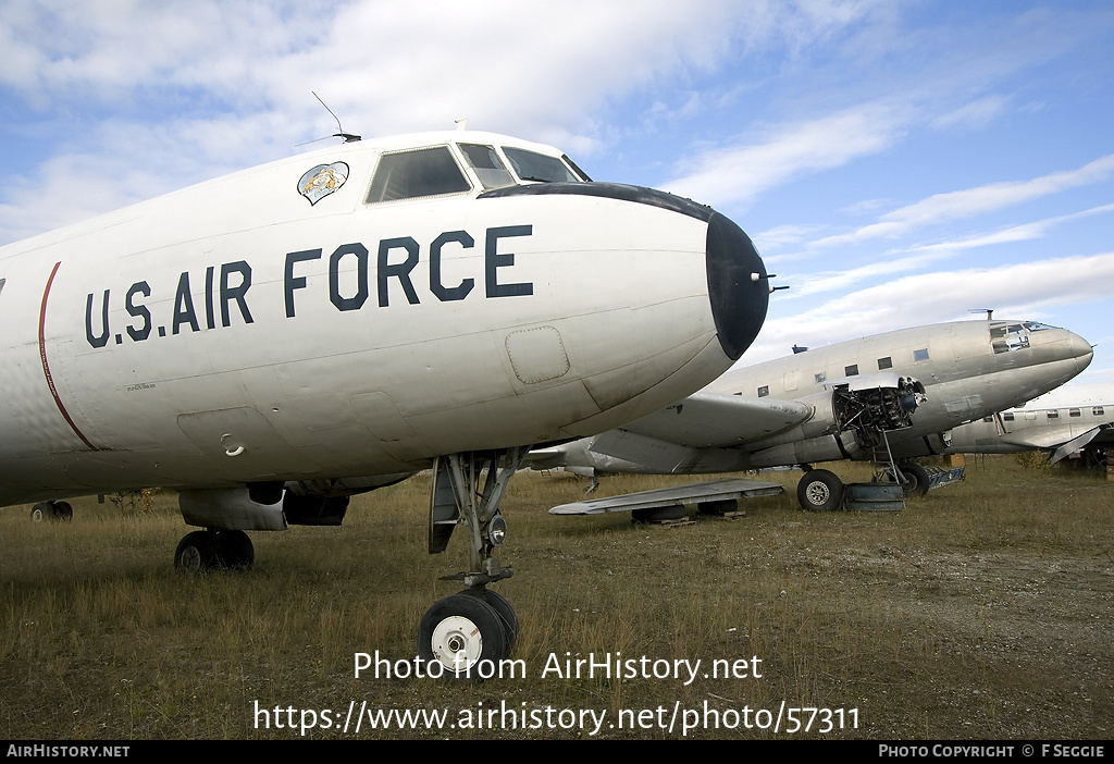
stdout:
<svg viewBox="0 0 1114 764">
<path fill-rule="evenodd" d="M 1063 384 L 1091 356 L 1082 337 L 1028 321 L 886 332 L 734 369 L 649 417 L 539 450 L 531 467 L 595 478 L 800 466 L 801 506 L 832 510 L 844 486 L 811 463 L 856 459 L 895 464 L 924 493 L 928 472 L 909 459 L 946 452 L 948 430 Z"/>
</svg>

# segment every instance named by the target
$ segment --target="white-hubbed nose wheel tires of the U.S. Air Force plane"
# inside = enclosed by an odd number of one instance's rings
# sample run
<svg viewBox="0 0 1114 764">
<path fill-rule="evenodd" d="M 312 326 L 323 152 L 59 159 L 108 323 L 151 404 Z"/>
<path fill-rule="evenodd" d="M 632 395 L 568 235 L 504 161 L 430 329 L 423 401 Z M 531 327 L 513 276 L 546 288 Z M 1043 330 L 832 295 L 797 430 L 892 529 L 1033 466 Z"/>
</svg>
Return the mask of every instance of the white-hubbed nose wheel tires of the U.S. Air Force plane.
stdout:
<svg viewBox="0 0 1114 764">
<path fill-rule="evenodd" d="M 430 676 L 488 678 L 492 666 L 507 655 L 504 618 L 487 599 L 465 594 L 446 597 L 422 616 L 418 655 L 430 664 Z"/>
</svg>

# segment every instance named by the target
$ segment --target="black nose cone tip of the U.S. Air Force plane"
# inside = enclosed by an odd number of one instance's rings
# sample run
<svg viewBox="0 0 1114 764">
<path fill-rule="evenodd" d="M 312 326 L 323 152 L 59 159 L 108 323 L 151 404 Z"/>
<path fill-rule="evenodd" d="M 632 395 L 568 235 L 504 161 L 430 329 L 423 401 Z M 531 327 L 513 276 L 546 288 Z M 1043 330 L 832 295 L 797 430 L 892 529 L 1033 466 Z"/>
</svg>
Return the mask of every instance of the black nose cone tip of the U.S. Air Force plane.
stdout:
<svg viewBox="0 0 1114 764">
<path fill-rule="evenodd" d="M 750 236 L 713 213 L 707 224 L 707 293 L 723 352 L 736 361 L 751 346 L 770 304 L 765 265 Z"/>
</svg>

